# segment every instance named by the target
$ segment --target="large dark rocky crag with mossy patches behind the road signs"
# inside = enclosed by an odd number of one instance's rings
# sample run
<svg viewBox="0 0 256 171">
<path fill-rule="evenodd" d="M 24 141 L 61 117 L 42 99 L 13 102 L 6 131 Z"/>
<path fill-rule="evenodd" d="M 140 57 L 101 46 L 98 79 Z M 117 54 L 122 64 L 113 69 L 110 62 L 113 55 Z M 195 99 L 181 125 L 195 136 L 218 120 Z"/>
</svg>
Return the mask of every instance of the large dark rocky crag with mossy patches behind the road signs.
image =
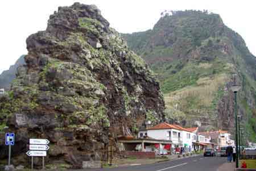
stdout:
<svg viewBox="0 0 256 171">
<path fill-rule="evenodd" d="M 59 7 L 46 31 L 27 38 L 27 49 L 26 66 L 0 100 L 1 139 L 16 133 L 14 164 L 28 164 L 26 144 L 34 137 L 51 141 L 48 163 L 81 168 L 146 118 L 163 119 L 158 82 L 96 6 Z"/>
</svg>

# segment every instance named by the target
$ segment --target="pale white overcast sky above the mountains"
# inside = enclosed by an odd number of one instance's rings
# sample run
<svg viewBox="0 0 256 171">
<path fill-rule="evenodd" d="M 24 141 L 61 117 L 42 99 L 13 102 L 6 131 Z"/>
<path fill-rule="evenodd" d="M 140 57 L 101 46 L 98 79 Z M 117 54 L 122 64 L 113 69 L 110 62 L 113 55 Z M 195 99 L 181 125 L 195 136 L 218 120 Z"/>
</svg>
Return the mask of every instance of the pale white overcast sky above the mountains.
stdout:
<svg viewBox="0 0 256 171">
<path fill-rule="evenodd" d="M 123 33 L 152 28 L 164 10 L 205 9 L 220 14 L 224 23 L 238 32 L 256 55 L 254 0 L 8 0 L 0 2 L 0 73 L 13 65 L 20 55 L 27 54 L 26 38 L 45 30 L 49 15 L 58 6 L 70 6 L 74 2 L 97 5 L 110 26 Z"/>
</svg>

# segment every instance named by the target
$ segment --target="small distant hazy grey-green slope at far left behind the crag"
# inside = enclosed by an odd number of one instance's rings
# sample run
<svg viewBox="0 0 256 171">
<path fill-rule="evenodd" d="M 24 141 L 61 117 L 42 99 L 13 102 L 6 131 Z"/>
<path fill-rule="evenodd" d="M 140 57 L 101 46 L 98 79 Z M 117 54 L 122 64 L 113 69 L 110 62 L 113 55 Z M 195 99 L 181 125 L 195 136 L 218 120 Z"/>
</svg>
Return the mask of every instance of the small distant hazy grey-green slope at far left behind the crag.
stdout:
<svg viewBox="0 0 256 171">
<path fill-rule="evenodd" d="M 16 78 L 16 70 L 18 66 L 25 64 L 24 55 L 20 56 L 14 65 L 11 65 L 9 70 L 4 70 L 0 74 L 0 88 L 9 90 L 11 82 Z"/>
</svg>

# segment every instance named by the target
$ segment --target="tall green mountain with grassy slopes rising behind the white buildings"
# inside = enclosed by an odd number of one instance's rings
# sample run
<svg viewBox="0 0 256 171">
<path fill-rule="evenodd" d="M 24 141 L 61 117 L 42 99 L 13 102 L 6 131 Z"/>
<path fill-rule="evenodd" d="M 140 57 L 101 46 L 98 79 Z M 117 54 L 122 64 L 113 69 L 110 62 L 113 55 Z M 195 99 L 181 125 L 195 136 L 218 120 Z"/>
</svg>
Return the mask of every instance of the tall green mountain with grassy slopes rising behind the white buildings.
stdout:
<svg viewBox="0 0 256 171">
<path fill-rule="evenodd" d="M 172 11 L 152 30 L 123 34 L 129 47 L 157 73 L 170 122 L 234 130 L 234 95 L 247 139 L 256 136 L 256 58 L 245 41 L 208 11 Z"/>
</svg>

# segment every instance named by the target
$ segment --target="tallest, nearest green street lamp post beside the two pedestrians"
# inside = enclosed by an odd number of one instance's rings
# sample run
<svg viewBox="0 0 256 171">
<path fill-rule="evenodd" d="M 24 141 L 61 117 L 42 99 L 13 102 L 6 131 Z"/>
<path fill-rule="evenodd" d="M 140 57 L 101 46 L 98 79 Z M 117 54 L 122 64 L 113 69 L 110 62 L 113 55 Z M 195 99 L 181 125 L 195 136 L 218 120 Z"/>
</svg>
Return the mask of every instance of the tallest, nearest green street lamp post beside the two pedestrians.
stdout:
<svg viewBox="0 0 256 171">
<path fill-rule="evenodd" d="M 233 85 L 230 87 L 235 96 L 235 118 L 236 118 L 236 151 L 238 150 L 238 135 L 237 135 L 237 91 L 241 89 L 240 85 Z M 236 168 L 238 168 L 238 152 L 236 152 Z"/>
</svg>

